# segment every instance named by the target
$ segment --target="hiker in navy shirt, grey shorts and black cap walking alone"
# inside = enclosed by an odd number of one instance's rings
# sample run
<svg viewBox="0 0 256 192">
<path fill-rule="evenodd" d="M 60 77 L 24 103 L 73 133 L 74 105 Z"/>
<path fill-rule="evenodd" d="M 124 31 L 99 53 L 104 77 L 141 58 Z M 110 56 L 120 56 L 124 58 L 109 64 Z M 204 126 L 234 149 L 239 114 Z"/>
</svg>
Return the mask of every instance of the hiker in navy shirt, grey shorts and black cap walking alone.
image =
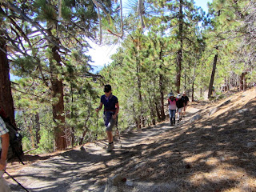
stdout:
<svg viewBox="0 0 256 192">
<path fill-rule="evenodd" d="M 105 94 L 102 95 L 101 102 L 96 109 L 96 112 L 98 113 L 99 110 L 102 110 L 102 105 L 104 105 L 104 122 L 109 142 L 107 152 L 111 152 L 114 149 L 112 129 L 117 122 L 119 104 L 118 98 L 112 94 L 112 89 L 110 85 L 104 86 L 104 92 Z"/>
</svg>

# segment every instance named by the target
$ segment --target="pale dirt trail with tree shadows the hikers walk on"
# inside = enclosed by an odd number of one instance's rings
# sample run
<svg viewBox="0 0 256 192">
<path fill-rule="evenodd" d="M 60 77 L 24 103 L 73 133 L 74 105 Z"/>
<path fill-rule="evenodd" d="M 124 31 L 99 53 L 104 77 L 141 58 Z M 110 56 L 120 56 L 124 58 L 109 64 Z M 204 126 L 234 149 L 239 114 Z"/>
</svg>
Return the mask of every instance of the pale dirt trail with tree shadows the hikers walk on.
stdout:
<svg viewBox="0 0 256 192">
<path fill-rule="evenodd" d="M 190 107 L 187 110 L 186 122 L 189 120 L 190 110 L 194 111 L 195 108 Z M 121 142 L 118 137 L 114 138 L 115 149 L 111 154 L 106 153 L 105 140 L 90 142 L 60 154 L 50 154 L 46 157 L 42 155 L 41 158 L 46 158 L 45 160 L 25 166 L 14 163 L 15 170 L 9 163 L 6 171 L 30 191 L 102 191 L 107 177 L 113 176 L 111 171 L 122 168 L 122 159 L 126 158 L 127 154 L 130 158 L 138 153 L 133 150 L 134 146 L 151 143 L 156 136 L 171 129 L 174 129 L 174 126 L 170 126 L 166 121 L 141 131 L 122 134 Z M 10 183 L 12 191 L 23 191 L 11 178 L 6 177 L 6 180 Z"/>
</svg>

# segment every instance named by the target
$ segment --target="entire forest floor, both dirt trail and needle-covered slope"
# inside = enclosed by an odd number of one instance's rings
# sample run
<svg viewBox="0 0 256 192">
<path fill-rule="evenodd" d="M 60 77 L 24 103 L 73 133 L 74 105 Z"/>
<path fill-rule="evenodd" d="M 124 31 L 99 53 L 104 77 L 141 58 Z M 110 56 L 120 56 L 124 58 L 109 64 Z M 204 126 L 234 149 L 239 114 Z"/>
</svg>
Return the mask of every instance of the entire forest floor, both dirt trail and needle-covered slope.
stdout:
<svg viewBox="0 0 256 192">
<path fill-rule="evenodd" d="M 256 89 L 192 102 L 177 125 L 122 134 L 121 143 L 113 153 L 104 140 L 26 155 L 6 171 L 29 191 L 256 191 Z"/>
</svg>

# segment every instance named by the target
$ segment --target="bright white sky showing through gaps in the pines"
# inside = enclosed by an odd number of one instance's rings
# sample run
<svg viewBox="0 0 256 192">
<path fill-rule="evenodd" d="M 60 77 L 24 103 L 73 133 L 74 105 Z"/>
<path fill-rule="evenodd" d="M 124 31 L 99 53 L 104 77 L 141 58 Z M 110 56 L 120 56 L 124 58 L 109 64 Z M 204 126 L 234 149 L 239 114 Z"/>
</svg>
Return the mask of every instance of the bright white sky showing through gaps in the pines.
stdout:
<svg viewBox="0 0 256 192">
<path fill-rule="evenodd" d="M 126 1 L 123 0 L 123 5 L 125 5 Z M 203 10 L 208 10 L 207 2 L 212 2 L 212 0 L 194 0 L 196 6 L 201 6 Z M 89 51 L 90 56 L 94 63 L 91 63 L 93 66 L 98 66 L 98 69 L 104 64 L 109 64 L 111 62 L 110 56 L 115 53 L 118 46 L 98 46 L 98 45 L 91 45 L 93 47 L 92 50 Z M 96 69 L 95 69 L 96 70 Z"/>
</svg>

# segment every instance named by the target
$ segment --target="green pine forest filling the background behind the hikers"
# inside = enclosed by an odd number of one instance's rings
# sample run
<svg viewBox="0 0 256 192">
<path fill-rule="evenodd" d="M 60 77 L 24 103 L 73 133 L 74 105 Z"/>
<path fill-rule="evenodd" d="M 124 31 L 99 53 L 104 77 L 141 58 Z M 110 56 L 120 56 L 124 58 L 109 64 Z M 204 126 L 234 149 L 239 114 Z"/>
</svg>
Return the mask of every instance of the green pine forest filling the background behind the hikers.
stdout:
<svg viewBox="0 0 256 192">
<path fill-rule="evenodd" d="M 30 153 L 105 138 L 94 109 L 106 84 L 118 97 L 121 132 L 166 120 L 170 92 L 211 101 L 255 86 L 252 0 L 213 0 L 208 14 L 188 0 L 130 1 L 128 14 L 110 0 L 0 5 L 0 106 Z M 89 39 L 120 45 L 98 74 Z"/>
</svg>

